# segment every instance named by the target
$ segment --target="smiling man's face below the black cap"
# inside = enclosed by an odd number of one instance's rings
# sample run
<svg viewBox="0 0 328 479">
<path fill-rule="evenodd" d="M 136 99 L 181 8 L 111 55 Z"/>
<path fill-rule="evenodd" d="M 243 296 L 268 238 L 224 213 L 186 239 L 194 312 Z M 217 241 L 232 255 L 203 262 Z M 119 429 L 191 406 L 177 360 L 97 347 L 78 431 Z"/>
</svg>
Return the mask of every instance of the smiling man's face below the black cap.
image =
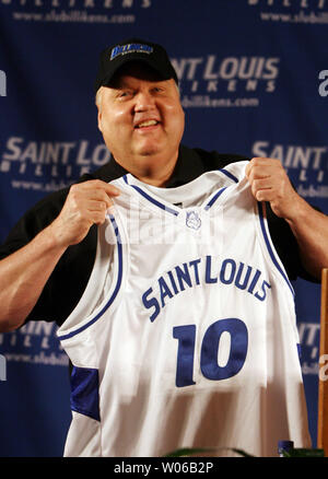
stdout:
<svg viewBox="0 0 328 479">
<path fill-rule="evenodd" d="M 185 116 L 175 81 L 128 65 L 103 86 L 98 127 L 116 161 L 127 170 L 161 168 L 177 159 Z"/>
</svg>

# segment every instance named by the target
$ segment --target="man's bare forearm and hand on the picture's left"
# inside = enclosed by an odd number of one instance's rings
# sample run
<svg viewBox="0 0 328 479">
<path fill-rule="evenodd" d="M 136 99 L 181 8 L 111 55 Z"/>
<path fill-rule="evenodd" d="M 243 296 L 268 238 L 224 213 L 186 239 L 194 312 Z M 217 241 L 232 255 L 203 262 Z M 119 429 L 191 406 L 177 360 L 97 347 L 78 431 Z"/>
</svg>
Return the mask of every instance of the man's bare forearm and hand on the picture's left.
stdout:
<svg viewBox="0 0 328 479">
<path fill-rule="evenodd" d="M 102 224 L 117 188 L 98 179 L 73 185 L 61 212 L 27 245 L 0 261 L 0 332 L 21 326 L 67 247 Z"/>
</svg>

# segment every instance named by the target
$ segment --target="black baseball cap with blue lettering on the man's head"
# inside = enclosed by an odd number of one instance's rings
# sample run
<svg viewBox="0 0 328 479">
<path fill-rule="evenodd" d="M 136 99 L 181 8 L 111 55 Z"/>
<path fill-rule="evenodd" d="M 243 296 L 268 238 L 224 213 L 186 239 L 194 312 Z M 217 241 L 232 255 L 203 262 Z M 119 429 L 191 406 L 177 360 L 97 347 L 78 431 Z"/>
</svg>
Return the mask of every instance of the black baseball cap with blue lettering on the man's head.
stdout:
<svg viewBox="0 0 328 479">
<path fill-rule="evenodd" d="M 162 80 L 174 79 L 178 83 L 166 50 L 157 44 L 141 38 L 128 38 L 102 51 L 94 90 L 108 85 L 117 70 L 128 61 L 144 61 Z"/>
</svg>

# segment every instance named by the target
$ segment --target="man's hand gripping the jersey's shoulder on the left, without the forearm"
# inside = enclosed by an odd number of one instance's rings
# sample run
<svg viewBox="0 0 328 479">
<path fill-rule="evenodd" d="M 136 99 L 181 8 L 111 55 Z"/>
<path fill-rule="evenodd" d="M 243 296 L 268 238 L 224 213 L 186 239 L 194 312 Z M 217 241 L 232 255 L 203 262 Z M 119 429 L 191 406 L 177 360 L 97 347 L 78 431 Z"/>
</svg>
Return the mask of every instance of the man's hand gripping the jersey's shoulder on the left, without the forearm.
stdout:
<svg viewBox="0 0 328 479">
<path fill-rule="evenodd" d="M 110 197 L 119 190 L 101 179 L 73 185 L 58 218 L 50 225 L 51 234 L 61 246 L 80 243 L 93 224 L 102 224 L 113 205 Z"/>
</svg>

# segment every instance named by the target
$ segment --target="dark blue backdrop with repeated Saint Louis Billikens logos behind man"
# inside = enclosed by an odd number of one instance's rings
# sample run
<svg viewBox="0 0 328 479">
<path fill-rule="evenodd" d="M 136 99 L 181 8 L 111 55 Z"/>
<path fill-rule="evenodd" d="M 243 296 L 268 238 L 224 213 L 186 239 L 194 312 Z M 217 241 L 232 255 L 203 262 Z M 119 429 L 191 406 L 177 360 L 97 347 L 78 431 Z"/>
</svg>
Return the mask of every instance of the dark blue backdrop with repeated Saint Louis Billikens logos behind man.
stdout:
<svg viewBox="0 0 328 479">
<path fill-rule="evenodd" d="M 93 81 L 99 51 L 130 36 L 166 46 L 186 144 L 280 159 L 328 212 L 328 0 L 0 0 L 0 241 L 38 199 L 109 161 Z M 294 287 L 315 445 L 319 285 Z M 1 456 L 62 454 L 68 359 L 42 319 L 0 334 Z"/>
</svg>

